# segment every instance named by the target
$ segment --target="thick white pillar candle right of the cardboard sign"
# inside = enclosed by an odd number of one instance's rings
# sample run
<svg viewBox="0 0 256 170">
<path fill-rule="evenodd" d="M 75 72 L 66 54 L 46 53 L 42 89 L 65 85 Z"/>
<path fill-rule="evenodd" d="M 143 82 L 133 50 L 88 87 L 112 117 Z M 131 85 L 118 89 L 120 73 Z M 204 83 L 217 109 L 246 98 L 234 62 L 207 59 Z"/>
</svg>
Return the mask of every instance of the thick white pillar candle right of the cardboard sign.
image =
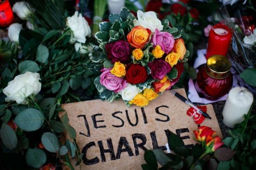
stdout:
<svg viewBox="0 0 256 170">
<path fill-rule="evenodd" d="M 243 122 L 244 114 L 248 113 L 252 102 L 253 95 L 249 90 L 244 87 L 232 88 L 222 111 L 223 123 L 233 128 L 234 125 Z"/>
</svg>

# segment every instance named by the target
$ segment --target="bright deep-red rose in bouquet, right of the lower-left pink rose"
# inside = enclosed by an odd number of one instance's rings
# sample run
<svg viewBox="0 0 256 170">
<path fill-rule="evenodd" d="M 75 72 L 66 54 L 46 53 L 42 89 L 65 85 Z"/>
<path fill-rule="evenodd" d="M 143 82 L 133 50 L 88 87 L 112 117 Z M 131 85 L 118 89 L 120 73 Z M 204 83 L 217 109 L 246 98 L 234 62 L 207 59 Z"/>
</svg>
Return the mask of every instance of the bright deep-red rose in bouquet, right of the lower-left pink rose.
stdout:
<svg viewBox="0 0 256 170">
<path fill-rule="evenodd" d="M 143 83 L 148 75 L 146 68 L 139 64 L 130 64 L 126 67 L 126 82 L 131 84 Z"/>
</svg>

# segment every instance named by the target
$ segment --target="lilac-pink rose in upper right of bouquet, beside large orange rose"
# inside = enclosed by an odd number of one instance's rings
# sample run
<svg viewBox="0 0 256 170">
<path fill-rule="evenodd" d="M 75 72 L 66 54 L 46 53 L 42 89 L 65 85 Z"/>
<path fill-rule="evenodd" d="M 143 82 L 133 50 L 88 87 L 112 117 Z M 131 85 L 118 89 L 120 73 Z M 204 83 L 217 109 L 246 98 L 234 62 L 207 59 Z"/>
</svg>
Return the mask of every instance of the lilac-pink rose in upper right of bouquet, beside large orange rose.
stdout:
<svg viewBox="0 0 256 170">
<path fill-rule="evenodd" d="M 159 45 L 162 51 L 166 54 L 168 54 L 174 47 L 173 35 L 167 32 L 159 32 L 158 29 L 156 29 L 151 42 L 154 43 L 154 47 Z"/>
</svg>

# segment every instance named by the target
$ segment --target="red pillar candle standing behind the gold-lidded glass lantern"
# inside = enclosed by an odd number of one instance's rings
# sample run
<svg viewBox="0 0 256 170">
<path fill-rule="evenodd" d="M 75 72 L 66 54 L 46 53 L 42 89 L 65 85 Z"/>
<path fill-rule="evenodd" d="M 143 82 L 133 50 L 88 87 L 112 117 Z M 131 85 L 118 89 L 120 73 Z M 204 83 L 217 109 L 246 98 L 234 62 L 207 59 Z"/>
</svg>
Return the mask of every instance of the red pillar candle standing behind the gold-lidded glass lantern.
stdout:
<svg viewBox="0 0 256 170">
<path fill-rule="evenodd" d="M 212 55 L 226 56 L 232 33 L 230 29 L 222 24 L 217 24 L 210 30 L 206 52 L 206 59 Z"/>
</svg>

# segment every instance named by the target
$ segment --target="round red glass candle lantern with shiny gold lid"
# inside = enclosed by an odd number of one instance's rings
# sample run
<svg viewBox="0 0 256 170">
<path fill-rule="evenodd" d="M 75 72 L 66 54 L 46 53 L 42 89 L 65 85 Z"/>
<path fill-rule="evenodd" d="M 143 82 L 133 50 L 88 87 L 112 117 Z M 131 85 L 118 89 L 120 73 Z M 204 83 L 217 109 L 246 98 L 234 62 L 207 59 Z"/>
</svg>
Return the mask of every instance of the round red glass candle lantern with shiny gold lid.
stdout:
<svg viewBox="0 0 256 170">
<path fill-rule="evenodd" d="M 211 56 L 197 74 L 196 90 L 205 99 L 218 100 L 227 94 L 233 84 L 231 63 L 225 56 Z"/>
</svg>

